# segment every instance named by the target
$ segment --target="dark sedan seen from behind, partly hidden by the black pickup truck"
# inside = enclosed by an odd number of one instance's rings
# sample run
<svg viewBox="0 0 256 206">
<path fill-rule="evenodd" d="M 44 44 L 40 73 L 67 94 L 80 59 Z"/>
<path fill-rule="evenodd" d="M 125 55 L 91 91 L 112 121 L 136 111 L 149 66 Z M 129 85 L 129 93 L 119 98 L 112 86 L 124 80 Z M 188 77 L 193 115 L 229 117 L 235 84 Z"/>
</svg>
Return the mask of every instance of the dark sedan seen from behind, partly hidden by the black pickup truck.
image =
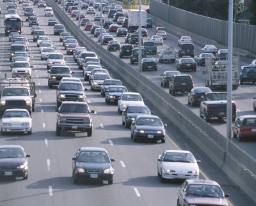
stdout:
<svg viewBox="0 0 256 206">
<path fill-rule="evenodd" d="M 188 105 L 194 107 L 196 104 L 200 105 L 204 99 L 205 93 L 212 92 L 209 87 L 194 87 L 188 92 Z"/>
</svg>

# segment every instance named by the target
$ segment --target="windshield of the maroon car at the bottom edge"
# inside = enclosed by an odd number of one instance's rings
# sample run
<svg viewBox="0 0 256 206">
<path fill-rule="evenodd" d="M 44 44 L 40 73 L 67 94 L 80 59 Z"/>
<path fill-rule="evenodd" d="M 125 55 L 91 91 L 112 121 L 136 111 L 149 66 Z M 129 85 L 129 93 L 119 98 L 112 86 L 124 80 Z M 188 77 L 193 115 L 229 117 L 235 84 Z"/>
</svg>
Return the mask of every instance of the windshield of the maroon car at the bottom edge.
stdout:
<svg viewBox="0 0 256 206">
<path fill-rule="evenodd" d="M 223 194 L 219 186 L 205 184 L 190 184 L 186 196 L 223 198 Z"/>
</svg>

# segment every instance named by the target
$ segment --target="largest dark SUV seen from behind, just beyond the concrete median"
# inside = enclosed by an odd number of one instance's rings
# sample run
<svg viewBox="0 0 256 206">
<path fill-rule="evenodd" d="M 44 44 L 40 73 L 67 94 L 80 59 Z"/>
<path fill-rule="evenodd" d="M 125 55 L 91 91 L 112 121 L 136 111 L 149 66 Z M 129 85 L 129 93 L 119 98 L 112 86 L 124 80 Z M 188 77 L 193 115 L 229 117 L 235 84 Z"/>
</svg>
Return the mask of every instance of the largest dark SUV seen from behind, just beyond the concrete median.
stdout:
<svg viewBox="0 0 256 206">
<path fill-rule="evenodd" d="M 174 75 L 169 82 L 169 94 L 175 96 L 176 92 L 190 92 L 193 87 L 191 75 Z"/>
</svg>

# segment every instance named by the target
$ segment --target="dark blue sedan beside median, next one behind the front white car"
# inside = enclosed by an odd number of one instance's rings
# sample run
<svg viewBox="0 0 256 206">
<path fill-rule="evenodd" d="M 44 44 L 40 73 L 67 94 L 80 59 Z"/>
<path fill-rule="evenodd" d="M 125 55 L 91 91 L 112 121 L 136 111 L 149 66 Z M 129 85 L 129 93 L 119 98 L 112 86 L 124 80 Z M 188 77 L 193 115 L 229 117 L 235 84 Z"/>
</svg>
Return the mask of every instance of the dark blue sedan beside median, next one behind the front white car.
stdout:
<svg viewBox="0 0 256 206">
<path fill-rule="evenodd" d="M 131 138 L 133 142 L 138 140 L 161 140 L 165 143 L 165 129 L 161 119 L 156 115 L 138 115 L 131 123 Z"/>
</svg>

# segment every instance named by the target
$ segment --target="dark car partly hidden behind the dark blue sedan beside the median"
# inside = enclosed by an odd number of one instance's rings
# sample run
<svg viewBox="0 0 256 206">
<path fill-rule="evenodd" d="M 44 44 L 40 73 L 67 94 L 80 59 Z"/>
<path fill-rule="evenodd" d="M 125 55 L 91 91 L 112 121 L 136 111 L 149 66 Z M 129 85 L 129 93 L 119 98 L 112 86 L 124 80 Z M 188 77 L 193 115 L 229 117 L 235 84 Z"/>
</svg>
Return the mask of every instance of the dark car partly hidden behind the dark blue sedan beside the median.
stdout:
<svg viewBox="0 0 256 206">
<path fill-rule="evenodd" d="M 154 112 L 150 112 L 146 105 L 128 105 L 122 113 L 122 125 L 125 128 L 131 128 L 132 121 L 136 119 L 138 115 L 150 115 Z"/>
</svg>

